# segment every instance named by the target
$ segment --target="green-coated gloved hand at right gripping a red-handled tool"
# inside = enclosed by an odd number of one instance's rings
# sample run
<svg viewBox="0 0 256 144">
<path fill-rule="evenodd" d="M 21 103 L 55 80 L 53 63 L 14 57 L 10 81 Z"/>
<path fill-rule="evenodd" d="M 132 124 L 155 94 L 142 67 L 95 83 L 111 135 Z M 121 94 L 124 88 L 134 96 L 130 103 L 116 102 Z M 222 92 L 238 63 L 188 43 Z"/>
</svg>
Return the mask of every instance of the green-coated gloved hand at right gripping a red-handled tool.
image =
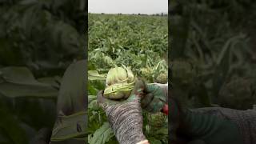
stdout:
<svg viewBox="0 0 256 144">
<path fill-rule="evenodd" d="M 168 84 L 147 84 L 146 96 L 142 98 L 142 108 L 150 113 L 156 113 L 162 110 L 162 112 L 168 114 L 167 98 Z"/>
</svg>

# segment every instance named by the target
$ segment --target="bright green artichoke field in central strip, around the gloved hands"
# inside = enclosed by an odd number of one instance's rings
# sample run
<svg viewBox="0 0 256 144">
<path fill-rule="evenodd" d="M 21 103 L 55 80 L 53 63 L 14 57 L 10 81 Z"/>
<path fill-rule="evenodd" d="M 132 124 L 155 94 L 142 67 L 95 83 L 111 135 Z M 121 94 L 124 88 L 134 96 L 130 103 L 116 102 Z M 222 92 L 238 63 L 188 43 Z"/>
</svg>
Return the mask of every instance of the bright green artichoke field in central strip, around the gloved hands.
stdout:
<svg viewBox="0 0 256 144">
<path fill-rule="evenodd" d="M 89 14 L 89 70 L 96 70 L 89 73 L 90 143 L 118 143 L 96 103 L 98 90 L 105 89 L 102 76 L 110 68 L 123 64 L 146 82 L 167 82 L 167 32 L 167 17 Z M 145 112 L 143 122 L 150 143 L 167 143 L 166 116 Z"/>
</svg>

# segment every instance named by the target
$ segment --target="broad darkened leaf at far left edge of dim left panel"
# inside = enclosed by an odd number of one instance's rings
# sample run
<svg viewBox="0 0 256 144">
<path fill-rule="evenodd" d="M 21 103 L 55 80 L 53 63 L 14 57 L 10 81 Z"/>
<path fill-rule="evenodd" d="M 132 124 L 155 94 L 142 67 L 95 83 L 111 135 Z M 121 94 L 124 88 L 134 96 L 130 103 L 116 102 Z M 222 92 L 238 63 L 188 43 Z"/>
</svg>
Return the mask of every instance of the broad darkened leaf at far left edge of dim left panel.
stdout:
<svg viewBox="0 0 256 144">
<path fill-rule="evenodd" d="M 56 98 L 58 95 L 58 90 L 38 82 L 26 67 L 10 66 L 0 71 L 0 94 L 6 97 Z"/>
</svg>

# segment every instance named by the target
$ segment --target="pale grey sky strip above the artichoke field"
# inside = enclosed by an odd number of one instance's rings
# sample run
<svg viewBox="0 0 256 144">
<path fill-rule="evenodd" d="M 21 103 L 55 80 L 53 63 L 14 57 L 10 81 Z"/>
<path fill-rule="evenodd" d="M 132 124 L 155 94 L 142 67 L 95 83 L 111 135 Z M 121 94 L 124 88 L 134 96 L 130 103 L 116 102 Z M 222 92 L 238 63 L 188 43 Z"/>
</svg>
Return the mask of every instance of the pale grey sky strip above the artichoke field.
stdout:
<svg viewBox="0 0 256 144">
<path fill-rule="evenodd" d="M 167 13 L 168 0 L 89 0 L 89 13 L 156 14 Z"/>
</svg>

